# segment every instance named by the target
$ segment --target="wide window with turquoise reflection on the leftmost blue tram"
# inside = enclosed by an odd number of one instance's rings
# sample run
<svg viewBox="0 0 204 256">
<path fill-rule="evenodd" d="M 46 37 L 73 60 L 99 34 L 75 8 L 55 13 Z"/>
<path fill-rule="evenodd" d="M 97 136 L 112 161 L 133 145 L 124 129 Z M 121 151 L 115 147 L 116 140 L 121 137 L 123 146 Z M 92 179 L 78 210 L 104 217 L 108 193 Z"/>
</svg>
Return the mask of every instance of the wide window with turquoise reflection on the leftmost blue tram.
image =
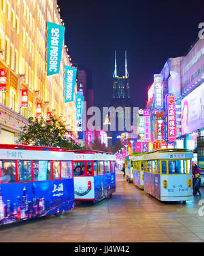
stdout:
<svg viewBox="0 0 204 256">
<path fill-rule="evenodd" d="M 33 161 L 33 179 L 52 180 L 51 161 Z"/>
</svg>

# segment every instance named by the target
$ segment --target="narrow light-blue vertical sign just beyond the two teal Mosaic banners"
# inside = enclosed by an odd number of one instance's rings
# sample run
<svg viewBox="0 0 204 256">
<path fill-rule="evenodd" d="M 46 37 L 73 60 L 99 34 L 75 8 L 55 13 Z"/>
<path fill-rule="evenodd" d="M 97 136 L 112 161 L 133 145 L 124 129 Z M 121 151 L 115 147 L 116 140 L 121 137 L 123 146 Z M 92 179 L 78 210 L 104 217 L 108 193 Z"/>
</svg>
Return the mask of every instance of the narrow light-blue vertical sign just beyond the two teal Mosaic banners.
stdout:
<svg viewBox="0 0 204 256">
<path fill-rule="evenodd" d="M 78 136 L 79 140 L 83 139 L 83 108 L 84 108 L 84 96 L 76 95 L 76 121 L 78 123 Z"/>
</svg>

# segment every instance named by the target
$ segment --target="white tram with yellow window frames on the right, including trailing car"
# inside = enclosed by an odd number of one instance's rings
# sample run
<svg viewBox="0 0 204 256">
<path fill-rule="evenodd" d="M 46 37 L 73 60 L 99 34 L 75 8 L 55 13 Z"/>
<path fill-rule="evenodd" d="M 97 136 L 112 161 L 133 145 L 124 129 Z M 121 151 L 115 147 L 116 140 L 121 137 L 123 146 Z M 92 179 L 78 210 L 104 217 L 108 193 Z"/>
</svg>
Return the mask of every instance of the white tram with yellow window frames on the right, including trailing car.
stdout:
<svg viewBox="0 0 204 256">
<path fill-rule="evenodd" d="M 132 156 L 134 184 L 160 201 L 191 200 L 192 158 L 193 153 L 187 149 Z"/>
</svg>

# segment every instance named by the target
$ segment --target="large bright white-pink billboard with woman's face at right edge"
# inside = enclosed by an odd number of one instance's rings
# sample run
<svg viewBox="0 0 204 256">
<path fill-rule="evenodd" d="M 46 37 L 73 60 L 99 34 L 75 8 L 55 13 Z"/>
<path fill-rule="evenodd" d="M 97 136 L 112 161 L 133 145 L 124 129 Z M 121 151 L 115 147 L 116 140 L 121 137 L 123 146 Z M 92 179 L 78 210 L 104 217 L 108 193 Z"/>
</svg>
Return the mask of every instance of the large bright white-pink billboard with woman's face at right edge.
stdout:
<svg viewBox="0 0 204 256">
<path fill-rule="evenodd" d="M 204 127 L 204 83 L 182 99 L 182 135 Z"/>
</svg>

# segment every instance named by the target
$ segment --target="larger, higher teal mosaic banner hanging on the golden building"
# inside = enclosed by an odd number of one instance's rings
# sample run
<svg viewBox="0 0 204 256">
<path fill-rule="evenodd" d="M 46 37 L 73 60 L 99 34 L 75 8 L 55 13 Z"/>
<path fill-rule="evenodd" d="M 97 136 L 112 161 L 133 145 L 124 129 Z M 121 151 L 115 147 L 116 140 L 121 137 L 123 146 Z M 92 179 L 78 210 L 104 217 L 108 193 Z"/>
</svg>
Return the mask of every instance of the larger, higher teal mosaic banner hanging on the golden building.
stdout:
<svg viewBox="0 0 204 256">
<path fill-rule="evenodd" d="M 59 73 L 65 27 L 47 22 L 47 76 Z"/>
</svg>

